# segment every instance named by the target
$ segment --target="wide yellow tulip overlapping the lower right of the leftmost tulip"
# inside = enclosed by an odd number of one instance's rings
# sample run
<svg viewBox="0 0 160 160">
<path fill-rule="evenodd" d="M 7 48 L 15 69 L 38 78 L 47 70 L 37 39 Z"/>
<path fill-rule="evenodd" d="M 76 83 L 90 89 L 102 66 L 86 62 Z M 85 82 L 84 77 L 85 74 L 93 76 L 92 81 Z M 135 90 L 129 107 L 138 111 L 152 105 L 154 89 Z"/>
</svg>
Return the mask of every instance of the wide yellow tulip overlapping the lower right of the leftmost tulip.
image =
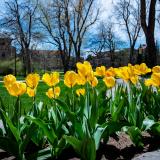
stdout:
<svg viewBox="0 0 160 160">
<path fill-rule="evenodd" d="M 7 87 L 7 90 L 12 96 L 21 96 L 26 92 L 26 84 L 22 82 L 14 82 L 12 85 Z"/>
</svg>

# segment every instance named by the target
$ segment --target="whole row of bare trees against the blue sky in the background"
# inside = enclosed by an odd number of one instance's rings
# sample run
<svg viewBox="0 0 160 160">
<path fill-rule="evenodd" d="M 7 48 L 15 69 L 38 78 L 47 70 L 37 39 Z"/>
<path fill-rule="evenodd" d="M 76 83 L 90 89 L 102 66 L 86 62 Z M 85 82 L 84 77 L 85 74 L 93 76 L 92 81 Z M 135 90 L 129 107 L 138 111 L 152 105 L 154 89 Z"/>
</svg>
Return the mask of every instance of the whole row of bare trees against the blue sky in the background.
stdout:
<svg viewBox="0 0 160 160">
<path fill-rule="evenodd" d="M 42 42 L 59 50 L 64 72 L 69 69 L 71 56 L 75 56 L 76 62 L 81 61 L 86 48 L 97 56 L 108 50 L 114 61 L 115 50 L 126 43 L 115 26 L 128 37 L 131 63 L 137 40 L 144 34 L 146 63 L 150 67 L 156 65 L 158 0 L 113 0 L 113 3 L 113 13 L 102 21 L 97 0 L 6 0 L 0 17 L 1 31 L 12 37 L 20 50 L 26 74 L 32 72 L 30 49 Z"/>
</svg>

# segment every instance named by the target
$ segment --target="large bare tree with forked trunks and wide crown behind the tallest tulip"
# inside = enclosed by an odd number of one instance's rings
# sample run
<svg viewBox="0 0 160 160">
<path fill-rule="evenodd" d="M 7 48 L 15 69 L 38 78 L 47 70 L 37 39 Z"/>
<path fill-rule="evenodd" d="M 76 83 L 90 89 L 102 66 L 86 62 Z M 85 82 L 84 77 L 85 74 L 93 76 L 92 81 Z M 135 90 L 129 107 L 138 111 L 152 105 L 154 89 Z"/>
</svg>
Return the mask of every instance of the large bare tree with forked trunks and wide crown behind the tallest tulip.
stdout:
<svg viewBox="0 0 160 160">
<path fill-rule="evenodd" d="M 98 17 L 93 13 L 95 0 L 53 0 L 40 6 L 40 22 L 52 43 L 61 53 L 64 71 L 68 70 L 71 55 L 80 61 L 86 32 Z M 95 10 L 94 10 L 95 11 Z M 93 17 L 94 15 L 94 17 Z"/>
</svg>

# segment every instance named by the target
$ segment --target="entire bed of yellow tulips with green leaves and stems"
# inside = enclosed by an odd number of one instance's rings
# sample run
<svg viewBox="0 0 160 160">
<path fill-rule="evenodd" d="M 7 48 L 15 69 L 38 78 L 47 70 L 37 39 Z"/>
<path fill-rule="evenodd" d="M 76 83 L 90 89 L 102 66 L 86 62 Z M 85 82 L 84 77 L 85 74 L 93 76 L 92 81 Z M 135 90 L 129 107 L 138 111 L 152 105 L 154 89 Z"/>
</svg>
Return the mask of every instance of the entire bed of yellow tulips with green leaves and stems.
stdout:
<svg viewBox="0 0 160 160">
<path fill-rule="evenodd" d="M 81 159 L 95 160 L 100 143 L 118 131 L 138 147 L 143 147 L 142 132 L 160 136 L 160 66 L 93 71 L 85 61 L 77 63 L 77 72 L 66 72 L 64 80 L 52 72 L 39 81 L 36 73 L 25 82 L 4 77 L 0 148 L 17 159 L 57 159 L 72 146 Z"/>
</svg>

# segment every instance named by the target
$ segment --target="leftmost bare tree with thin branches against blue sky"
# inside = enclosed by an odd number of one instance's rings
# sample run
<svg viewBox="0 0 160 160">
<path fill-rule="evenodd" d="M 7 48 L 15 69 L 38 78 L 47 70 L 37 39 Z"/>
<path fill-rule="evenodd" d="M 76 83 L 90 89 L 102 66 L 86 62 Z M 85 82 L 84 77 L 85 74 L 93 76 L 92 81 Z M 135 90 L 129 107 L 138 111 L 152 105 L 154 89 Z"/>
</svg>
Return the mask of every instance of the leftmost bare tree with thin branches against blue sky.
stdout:
<svg viewBox="0 0 160 160">
<path fill-rule="evenodd" d="M 32 72 L 30 45 L 39 37 L 36 29 L 36 10 L 38 0 L 7 0 L 1 25 L 11 34 L 21 48 L 26 73 Z M 25 73 L 25 74 L 26 74 Z"/>
</svg>

